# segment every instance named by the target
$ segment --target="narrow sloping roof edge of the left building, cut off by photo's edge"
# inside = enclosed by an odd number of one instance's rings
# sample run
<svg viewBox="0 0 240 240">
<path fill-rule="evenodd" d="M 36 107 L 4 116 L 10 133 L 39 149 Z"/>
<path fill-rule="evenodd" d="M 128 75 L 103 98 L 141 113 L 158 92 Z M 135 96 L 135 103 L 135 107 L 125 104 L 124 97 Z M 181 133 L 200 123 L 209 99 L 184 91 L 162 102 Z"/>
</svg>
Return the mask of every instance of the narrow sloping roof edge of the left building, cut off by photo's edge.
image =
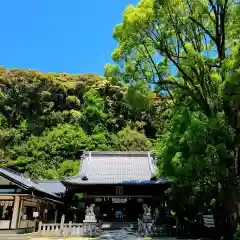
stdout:
<svg viewBox="0 0 240 240">
<path fill-rule="evenodd" d="M 48 189 L 45 189 L 43 186 L 38 185 L 37 183 L 31 181 L 30 179 L 25 178 L 23 174 L 13 171 L 9 168 L 0 167 L 0 175 L 26 190 L 32 189 L 59 198 L 53 192 L 49 191 Z"/>
</svg>

